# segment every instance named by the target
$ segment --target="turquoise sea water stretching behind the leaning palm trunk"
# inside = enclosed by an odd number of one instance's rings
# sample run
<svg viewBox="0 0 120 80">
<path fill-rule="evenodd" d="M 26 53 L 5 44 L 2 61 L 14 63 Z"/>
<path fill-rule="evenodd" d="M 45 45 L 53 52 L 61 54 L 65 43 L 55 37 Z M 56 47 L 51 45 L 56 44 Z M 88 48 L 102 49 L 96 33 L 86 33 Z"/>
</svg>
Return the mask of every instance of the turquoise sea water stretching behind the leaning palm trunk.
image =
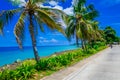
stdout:
<svg viewBox="0 0 120 80">
<path fill-rule="evenodd" d="M 76 49 L 76 46 L 45 46 L 38 47 L 39 56 L 45 57 L 55 52 Z M 17 59 L 25 60 L 34 58 L 33 50 L 31 47 L 25 47 L 22 51 L 18 47 L 4 47 L 0 48 L 0 66 L 11 64 Z"/>
</svg>

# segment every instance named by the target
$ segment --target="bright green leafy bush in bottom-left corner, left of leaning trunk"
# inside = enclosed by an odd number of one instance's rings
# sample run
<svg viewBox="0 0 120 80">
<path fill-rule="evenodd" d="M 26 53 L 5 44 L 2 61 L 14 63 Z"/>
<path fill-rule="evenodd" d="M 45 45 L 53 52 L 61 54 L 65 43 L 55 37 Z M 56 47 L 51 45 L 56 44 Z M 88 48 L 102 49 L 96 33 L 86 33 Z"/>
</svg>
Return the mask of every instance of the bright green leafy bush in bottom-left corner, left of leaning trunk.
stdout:
<svg viewBox="0 0 120 80">
<path fill-rule="evenodd" d="M 0 72 L 0 80 L 27 80 L 32 77 L 36 70 L 33 63 L 27 62 L 23 62 L 15 70 L 5 69 Z"/>
</svg>

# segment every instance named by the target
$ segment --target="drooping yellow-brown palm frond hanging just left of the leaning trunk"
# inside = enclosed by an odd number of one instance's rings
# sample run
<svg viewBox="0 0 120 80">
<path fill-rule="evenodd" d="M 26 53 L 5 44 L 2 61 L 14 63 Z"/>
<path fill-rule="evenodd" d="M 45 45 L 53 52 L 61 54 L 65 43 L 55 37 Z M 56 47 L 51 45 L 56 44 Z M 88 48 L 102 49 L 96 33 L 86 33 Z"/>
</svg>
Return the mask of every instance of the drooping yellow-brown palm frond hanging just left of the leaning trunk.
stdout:
<svg viewBox="0 0 120 80">
<path fill-rule="evenodd" d="M 23 12 L 20 15 L 20 18 L 14 28 L 14 34 L 15 34 L 17 43 L 19 44 L 20 48 L 22 48 L 22 43 L 24 39 L 25 18 L 26 18 L 26 13 Z"/>
</svg>

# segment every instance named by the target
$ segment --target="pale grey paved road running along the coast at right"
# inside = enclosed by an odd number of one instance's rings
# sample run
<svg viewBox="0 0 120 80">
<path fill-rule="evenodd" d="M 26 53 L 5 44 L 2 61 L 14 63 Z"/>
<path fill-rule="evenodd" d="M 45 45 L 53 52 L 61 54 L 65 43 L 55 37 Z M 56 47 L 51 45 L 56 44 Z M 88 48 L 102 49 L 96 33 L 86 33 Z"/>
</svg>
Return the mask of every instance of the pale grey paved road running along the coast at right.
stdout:
<svg viewBox="0 0 120 80">
<path fill-rule="evenodd" d="M 62 80 L 120 80 L 120 46 L 102 53 Z"/>
</svg>

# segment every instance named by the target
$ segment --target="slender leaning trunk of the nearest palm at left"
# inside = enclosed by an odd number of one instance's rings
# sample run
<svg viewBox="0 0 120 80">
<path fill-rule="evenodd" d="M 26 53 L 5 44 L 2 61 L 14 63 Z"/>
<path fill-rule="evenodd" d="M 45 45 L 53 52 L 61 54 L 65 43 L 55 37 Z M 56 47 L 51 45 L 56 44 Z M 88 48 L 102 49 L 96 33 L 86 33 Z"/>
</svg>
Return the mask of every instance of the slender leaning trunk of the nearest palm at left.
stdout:
<svg viewBox="0 0 120 80">
<path fill-rule="evenodd" d="M 32 48 L 33 48 L 33 51 L 34 51 L 35 60 L 38 63 L 40 58 L 39 58 L 37 47 L 36 47 L 36 39 L 35 39 L 35 34 L 34 34 L 32 16 L 30 14 L 29 14 L 29 16 L 30 16 L 29 32 L 30 32 L 30 36 L 31 36 L 31 39 L 32 39 Z"/>
</svg>

